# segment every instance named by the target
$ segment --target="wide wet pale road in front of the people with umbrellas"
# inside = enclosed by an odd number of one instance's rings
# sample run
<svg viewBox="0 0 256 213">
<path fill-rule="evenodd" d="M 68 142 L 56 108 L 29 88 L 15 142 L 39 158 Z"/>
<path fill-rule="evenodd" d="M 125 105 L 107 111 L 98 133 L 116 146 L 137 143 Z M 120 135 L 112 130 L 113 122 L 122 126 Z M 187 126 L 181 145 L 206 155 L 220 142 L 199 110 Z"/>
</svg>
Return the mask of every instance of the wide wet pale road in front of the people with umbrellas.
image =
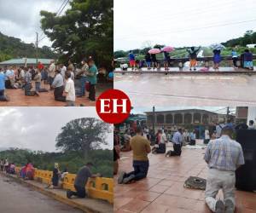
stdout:
<svg viewBox="0 0 256 213">
<path fill-rule="evenodd" d="M 125 91 L 133 107 L 256 105 L 256 76 L 247 74 L 115 73 L 114 88 Z"/>
</svg>

